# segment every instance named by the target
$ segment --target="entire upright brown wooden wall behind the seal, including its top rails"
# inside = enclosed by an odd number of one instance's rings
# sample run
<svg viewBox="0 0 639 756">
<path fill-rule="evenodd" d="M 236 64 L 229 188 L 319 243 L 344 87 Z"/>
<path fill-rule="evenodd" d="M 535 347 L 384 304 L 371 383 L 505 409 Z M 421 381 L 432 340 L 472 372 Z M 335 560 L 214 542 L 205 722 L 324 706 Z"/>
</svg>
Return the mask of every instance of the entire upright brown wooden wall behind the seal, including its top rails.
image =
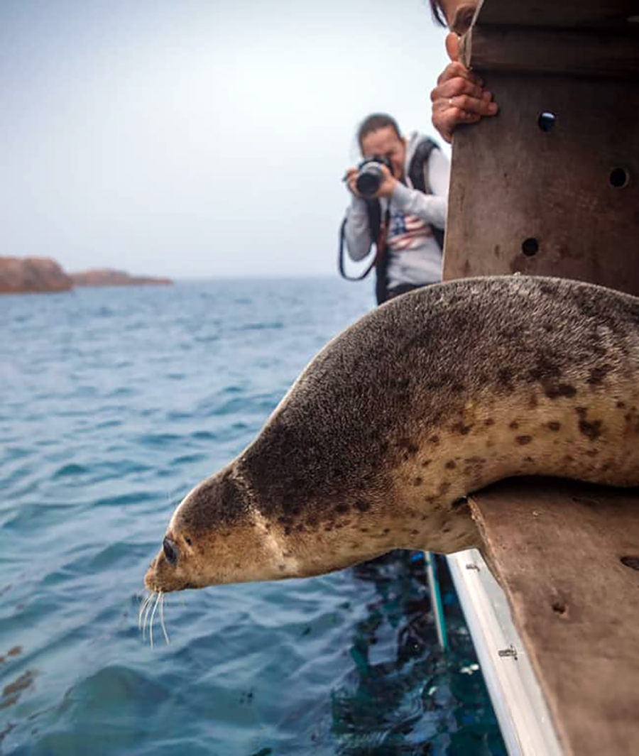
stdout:
<svg viewBox="0 0 639 756">
<path fill-rule="evenodd" d="M 483 2 L 464 55 L 500 113 L 455 132 L 445 278 L 639 295 L 637 22 L 637 0 Z"/>
</svg>

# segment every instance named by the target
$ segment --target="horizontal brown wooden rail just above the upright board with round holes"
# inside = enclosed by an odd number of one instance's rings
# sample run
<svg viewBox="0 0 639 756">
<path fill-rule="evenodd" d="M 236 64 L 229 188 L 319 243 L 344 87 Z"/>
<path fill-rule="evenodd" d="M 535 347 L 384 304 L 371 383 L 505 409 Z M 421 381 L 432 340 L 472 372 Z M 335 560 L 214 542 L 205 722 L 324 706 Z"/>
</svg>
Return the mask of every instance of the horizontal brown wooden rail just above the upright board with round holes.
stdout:
<svg viewBox="0 0 639 756">
<path fill-rule="evenodd" d="M 461 60 L 473 70 L 637 79 L 634 36 L 577 29 L 476 26 L 464 36 Z"/>
</svg>

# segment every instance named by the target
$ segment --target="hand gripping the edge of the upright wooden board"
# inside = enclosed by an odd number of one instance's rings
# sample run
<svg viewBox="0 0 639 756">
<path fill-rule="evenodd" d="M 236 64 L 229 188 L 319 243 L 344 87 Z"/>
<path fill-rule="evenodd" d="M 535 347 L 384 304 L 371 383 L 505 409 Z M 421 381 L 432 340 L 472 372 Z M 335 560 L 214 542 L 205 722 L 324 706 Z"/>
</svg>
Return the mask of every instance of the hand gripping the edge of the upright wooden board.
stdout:
<svg viewBox="0 0 639 756">
<path fill-rule="evenodd" d="M 454 39 L 453 39 L 454 38 Z M 460 123 L 476 123 L 484 116 L 495 116 L 498 106 L 484 82 L 458 60 L 458 37 L 449 34 L 446 49 L 451 63 L 442 71 L 437 86 L 430 93 L 433 102 L 433 125 L 445 141 Z"/>
</svg>

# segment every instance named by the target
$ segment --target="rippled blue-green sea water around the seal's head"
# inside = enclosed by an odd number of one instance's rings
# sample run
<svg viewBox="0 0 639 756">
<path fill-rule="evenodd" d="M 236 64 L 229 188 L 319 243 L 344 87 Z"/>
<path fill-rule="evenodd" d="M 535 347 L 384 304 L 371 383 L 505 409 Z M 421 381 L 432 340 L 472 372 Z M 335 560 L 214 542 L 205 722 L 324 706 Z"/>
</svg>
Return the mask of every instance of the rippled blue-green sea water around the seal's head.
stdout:
<svg viewBox="0 0 639 756">
<path fill-rule="evenodd" d="M 439 650 L 408 553 L 167 596 L 142 578 L 178 501 L 253 438 L 371 287 L 236 280 L 0 298 L 0 754 L 493 754 L 442 574 Z"/>
</svg>

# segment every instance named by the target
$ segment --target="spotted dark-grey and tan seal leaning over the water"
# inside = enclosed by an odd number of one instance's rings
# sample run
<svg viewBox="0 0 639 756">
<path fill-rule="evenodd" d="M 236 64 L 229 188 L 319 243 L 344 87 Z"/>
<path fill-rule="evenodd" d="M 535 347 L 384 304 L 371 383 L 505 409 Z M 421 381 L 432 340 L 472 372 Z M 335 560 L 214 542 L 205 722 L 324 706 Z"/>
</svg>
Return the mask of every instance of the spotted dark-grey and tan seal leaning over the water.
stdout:
<svg viewBox="0 0 639 756">
<path fill-rule="evenodd" d="M 481 547 L 464 497 L 510 476 L 639 484 L 639 299 L 464 279 L 329 342 L 257 438 L 175 510 L 154 593 Z"/>
</svg>

